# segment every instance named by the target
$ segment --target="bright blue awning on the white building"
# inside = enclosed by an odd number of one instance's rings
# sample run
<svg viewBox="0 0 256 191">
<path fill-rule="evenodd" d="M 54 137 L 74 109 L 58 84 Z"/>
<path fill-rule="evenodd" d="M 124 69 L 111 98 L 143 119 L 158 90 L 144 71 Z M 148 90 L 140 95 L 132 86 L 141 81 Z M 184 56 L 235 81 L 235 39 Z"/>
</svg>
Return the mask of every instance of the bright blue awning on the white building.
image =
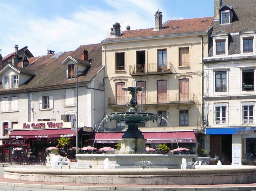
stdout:
<svg viewBox="0 0 256 191">
<path fill-rule="evenodd" d="M 206 128 L 206 135 L 249 134 L 249 133 L 254 133 L 255 130 L 256 130 L 256 127 Z"/>
</svg>

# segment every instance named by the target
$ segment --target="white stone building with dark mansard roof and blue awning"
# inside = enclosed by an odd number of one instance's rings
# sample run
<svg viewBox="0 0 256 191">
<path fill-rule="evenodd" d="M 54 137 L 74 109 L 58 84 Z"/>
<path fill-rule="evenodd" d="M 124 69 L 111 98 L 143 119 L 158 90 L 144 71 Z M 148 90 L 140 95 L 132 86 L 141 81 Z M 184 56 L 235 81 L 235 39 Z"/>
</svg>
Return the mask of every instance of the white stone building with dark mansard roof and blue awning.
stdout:
<svg viewBox="0 0 256 191">
<path fill-rule="evenodd" d="M 226 164 L 255 153 L 255 1 L 215 0 L 204 57 L 205 149 Z"/>
</svg>

